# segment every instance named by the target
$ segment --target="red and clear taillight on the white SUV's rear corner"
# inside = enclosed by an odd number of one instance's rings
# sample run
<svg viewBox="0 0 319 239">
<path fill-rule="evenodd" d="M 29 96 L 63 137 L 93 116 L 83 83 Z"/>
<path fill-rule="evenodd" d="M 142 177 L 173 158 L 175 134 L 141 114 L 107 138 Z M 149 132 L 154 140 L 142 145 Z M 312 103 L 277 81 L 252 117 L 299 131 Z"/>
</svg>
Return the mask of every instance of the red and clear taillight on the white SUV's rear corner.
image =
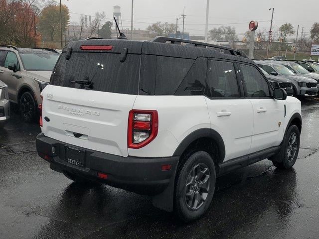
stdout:
<svg viewBox="0 0 319 239">
<path fill-rule="evenodd" d="M 131 110 L 128 125 L 128 147 L 142 148 L 149 144 L 159 130 L 157 111 Z"/>
</svg>

